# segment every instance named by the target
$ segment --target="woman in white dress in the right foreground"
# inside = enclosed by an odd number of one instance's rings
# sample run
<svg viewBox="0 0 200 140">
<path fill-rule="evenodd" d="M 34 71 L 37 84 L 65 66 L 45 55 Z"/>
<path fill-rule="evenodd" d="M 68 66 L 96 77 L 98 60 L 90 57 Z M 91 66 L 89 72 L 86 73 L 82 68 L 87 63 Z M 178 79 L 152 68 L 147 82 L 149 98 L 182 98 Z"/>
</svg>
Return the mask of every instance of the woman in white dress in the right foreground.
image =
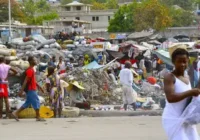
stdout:
<svg viewBox="0 0 200 140">
<path fill-rule="evenodd" d="M 168 140 L 199 140 L 196 126 L 185 125 L 184 118 L 181 118 L 191 97 L 200 94 L 199 89 L 191 89 L 189 78 L 184 74 L 188 66 L 189 54 L 184 47 L 176 48 L 171 58 L 175 69 L 164 78 L 167 101 L 162 115 L 163 128 Z"/>
</svg>

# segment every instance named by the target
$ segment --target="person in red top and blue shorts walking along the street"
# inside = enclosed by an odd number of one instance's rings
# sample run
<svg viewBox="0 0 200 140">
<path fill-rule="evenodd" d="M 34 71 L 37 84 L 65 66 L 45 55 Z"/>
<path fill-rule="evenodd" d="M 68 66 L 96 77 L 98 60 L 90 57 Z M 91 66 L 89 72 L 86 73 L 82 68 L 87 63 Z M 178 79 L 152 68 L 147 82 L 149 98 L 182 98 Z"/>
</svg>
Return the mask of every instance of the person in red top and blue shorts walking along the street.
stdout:
<svg viewBox="0 0 200 140">
<path fill-rule="evenodd" d="M 36 112 L 36 121 L 45 121 L 44 119 L 40 118 L 40 100 L 36 92 L 37 87 L 43 92 L 42 88 L 36 82 L 35 71 L 33 69 L 33 67 L 37 65 L 37 61 L 35 57 L 30 56 L 28 58 L 28 62 L 30 64 L 30 67 L 26 70 L 26 78 L 19 92 L 19 96 L 22 96 L 25 87 L 28 86 L 28 92 L 26 93 L 26 102 L 22 105 L 20 109 L 13 112 L 12 115 L 16 119 L 16 121 L 19 121 L 18 114 L 25 108 L 28 108 L 30 105 L 32 105 Z"/>
</svg>

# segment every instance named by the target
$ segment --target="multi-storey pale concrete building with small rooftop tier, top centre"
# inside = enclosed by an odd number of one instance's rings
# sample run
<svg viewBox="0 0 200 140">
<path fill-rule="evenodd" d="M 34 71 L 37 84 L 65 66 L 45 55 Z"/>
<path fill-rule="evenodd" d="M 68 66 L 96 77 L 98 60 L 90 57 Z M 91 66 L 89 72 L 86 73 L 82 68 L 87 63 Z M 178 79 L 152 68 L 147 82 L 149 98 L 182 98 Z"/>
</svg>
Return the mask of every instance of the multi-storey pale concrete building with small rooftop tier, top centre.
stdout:
<svg viewBox="0 0 200 140">
<path fill-rule="evenodd" d="M 81 32 L 105 32 L 109 20 L 116 10 L 91 10 L 92 5 L 83 4 L 77 1 L 57 7 L 60 19 L 46 22 L 45 25 L 53 25 L 54 31 L 71 30 L 74 24 Z M 64 23 L 65 22 L 65 23 Z M 67 23 L 66 23 L 67 22 Z M 71 25 L 70 25 L 71 24 Z M 71 28 L 71 29 L 70 29 Z"/>
</svg>

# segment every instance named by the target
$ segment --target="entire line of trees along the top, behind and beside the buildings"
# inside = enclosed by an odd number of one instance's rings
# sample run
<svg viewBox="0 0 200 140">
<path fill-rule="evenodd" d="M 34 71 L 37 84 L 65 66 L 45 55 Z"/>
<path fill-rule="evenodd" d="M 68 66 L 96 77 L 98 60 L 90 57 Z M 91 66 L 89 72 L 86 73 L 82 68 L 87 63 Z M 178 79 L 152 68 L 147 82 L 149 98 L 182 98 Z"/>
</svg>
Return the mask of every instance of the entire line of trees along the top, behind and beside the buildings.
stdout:
<svg viewBox="0 0 200 140">
<path fill-rule="evenodd" d="M 73 0 L 61 0 L 61 5 Z M 194 10 L 200 0 L 133 0 L 129 5 L 118 5 L 118 0 L 79 0 L 91 4 L 92 10 L 118 9 L 109 21 L 109 32 L 132 32 L 148 29 L 163 30 L 198 24 Z M 12 19 L 42 25 L 45 20 L 59 18 L 46 0 L 11 0 Z M 8 0 L 0 1 L 0 22 L 8 21 Z"/>
</svg>

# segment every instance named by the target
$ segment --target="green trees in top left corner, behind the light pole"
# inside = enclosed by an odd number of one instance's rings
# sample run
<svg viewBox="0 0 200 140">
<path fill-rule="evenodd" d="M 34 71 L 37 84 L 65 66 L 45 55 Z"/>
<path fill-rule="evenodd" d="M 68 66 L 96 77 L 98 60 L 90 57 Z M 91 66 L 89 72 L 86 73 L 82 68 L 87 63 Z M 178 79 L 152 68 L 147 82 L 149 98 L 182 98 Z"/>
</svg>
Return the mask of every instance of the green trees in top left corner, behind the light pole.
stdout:
<svg viewBox="0 0 200 140">
<path fill-rule="evenodd" d="M 26 22 L 30 25 L 42 25 L 44 20 L 58 18 L 58 14 L 52 11 L 46 0 L 24 0 L 23 3 L 16 3 L 11 0 L 12 19 Z M 0 22 L 8 21 L 8 0 L 0 1 Z"/>
</svg>

